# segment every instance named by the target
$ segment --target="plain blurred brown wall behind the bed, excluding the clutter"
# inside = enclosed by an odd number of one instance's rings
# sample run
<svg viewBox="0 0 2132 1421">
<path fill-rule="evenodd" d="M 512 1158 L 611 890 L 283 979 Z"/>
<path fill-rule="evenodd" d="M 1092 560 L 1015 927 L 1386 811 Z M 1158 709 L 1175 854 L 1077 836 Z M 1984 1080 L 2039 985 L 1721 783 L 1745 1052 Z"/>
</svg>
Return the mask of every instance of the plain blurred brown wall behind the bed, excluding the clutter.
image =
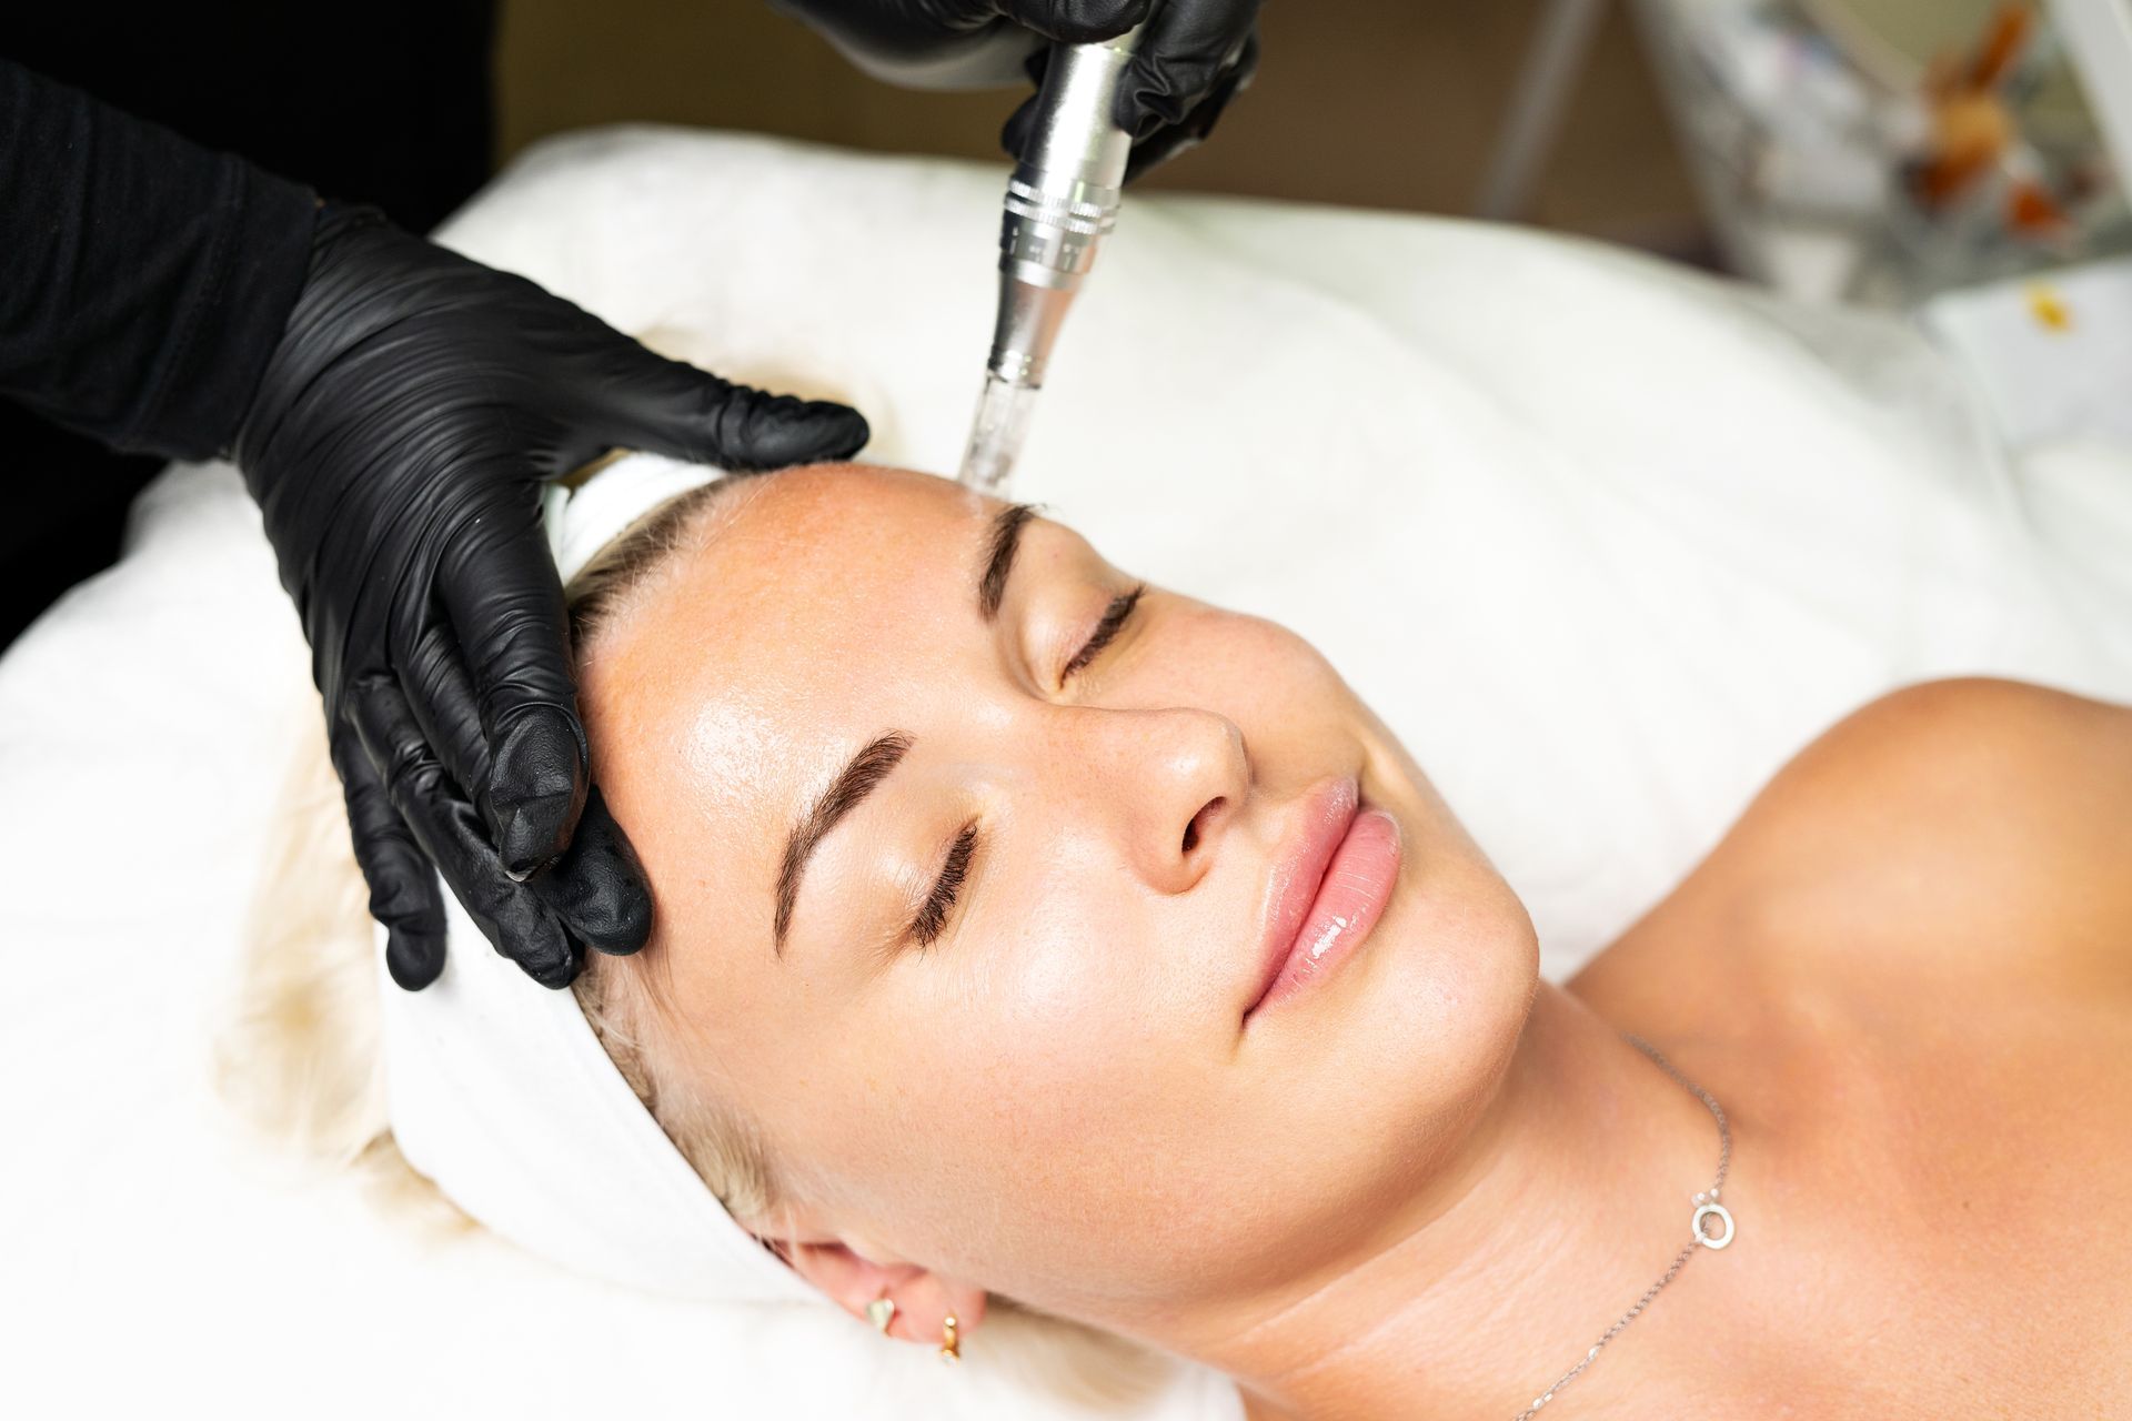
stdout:
<svg viewBox="0 0 2132 1421">
<path fill-rule="evenodd" d="M 1269 0 L 1258 83 L 1149 185 L 1467 211 L 1541 0 Z M 588 124 L 1000 158 L 1017 96 L 866 79 L 763 0 L 503 0 L 501 147 Z M 1000 160 L 1004 162 L 1004 160 Z M 1676 245 L 1695 205 L 1625 6 L 1539 194 L 1552 226 Z"/>
</svg>

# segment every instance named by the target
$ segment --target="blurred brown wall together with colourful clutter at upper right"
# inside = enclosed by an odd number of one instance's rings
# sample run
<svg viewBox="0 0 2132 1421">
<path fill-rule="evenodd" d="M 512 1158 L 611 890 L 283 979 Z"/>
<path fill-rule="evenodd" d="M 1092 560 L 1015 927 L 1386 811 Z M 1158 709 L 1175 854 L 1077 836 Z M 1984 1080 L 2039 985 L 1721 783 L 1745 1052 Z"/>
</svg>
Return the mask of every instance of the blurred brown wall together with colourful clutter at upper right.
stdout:
<svg viewBox="0 0 2132 1421">
<path fill-rule="evenodd" d="M 2132 0 L 2074 4 L 2132 45 Z M 1258 83 L 1147 187 L 1533 222 L 1908 305 L 2132 245 L 2064 9 L 1271 0 Z M 501 158 L 657 119 L 1000 162 L 1019 102 L 876 83 L 748 0 L 507 0 L 495 72 Z"/>
</svg>

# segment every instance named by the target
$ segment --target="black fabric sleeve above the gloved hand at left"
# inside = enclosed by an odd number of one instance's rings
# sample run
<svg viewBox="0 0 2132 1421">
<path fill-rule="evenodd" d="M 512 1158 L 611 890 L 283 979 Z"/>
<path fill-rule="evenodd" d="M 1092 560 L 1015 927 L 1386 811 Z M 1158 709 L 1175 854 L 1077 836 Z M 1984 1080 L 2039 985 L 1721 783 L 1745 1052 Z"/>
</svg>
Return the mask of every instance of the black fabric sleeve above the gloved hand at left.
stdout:
<svg viewBox="0 0 2132 1421">
<path fill-rule="evenodd" d="M 0 60 L 0 394 L 115 450 L 228 447 L 318 202 Z"/>
</svg>

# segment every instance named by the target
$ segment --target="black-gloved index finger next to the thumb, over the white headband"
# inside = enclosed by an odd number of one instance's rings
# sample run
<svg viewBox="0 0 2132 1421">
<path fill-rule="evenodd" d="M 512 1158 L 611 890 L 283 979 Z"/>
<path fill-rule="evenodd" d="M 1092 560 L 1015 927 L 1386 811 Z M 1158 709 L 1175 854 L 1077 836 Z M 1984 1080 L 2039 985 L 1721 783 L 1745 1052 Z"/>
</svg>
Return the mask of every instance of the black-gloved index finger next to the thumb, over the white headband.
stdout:
<svg viewBox="0 0 2132 1421">
<path fill-rule="evenodd" d="M 478 756 L 463 744 L 465 712 L 454 709 L 461 692 L 448 671 L 456 639 L 488 748 L 486 780 L 465 788 L 488 818 L 503 871 L 522 880 L 569 846 L 591 778 L 563 584 L 539 505 L 499 499 L 461 524 L 439 560 L 437 592 L 454 637 L 418 641 L 431 660 L 405 667 L 403 677 L 433 699 L 429 720 L 452 726 L 454 761 L 471 773 Z"/>
</svg>

